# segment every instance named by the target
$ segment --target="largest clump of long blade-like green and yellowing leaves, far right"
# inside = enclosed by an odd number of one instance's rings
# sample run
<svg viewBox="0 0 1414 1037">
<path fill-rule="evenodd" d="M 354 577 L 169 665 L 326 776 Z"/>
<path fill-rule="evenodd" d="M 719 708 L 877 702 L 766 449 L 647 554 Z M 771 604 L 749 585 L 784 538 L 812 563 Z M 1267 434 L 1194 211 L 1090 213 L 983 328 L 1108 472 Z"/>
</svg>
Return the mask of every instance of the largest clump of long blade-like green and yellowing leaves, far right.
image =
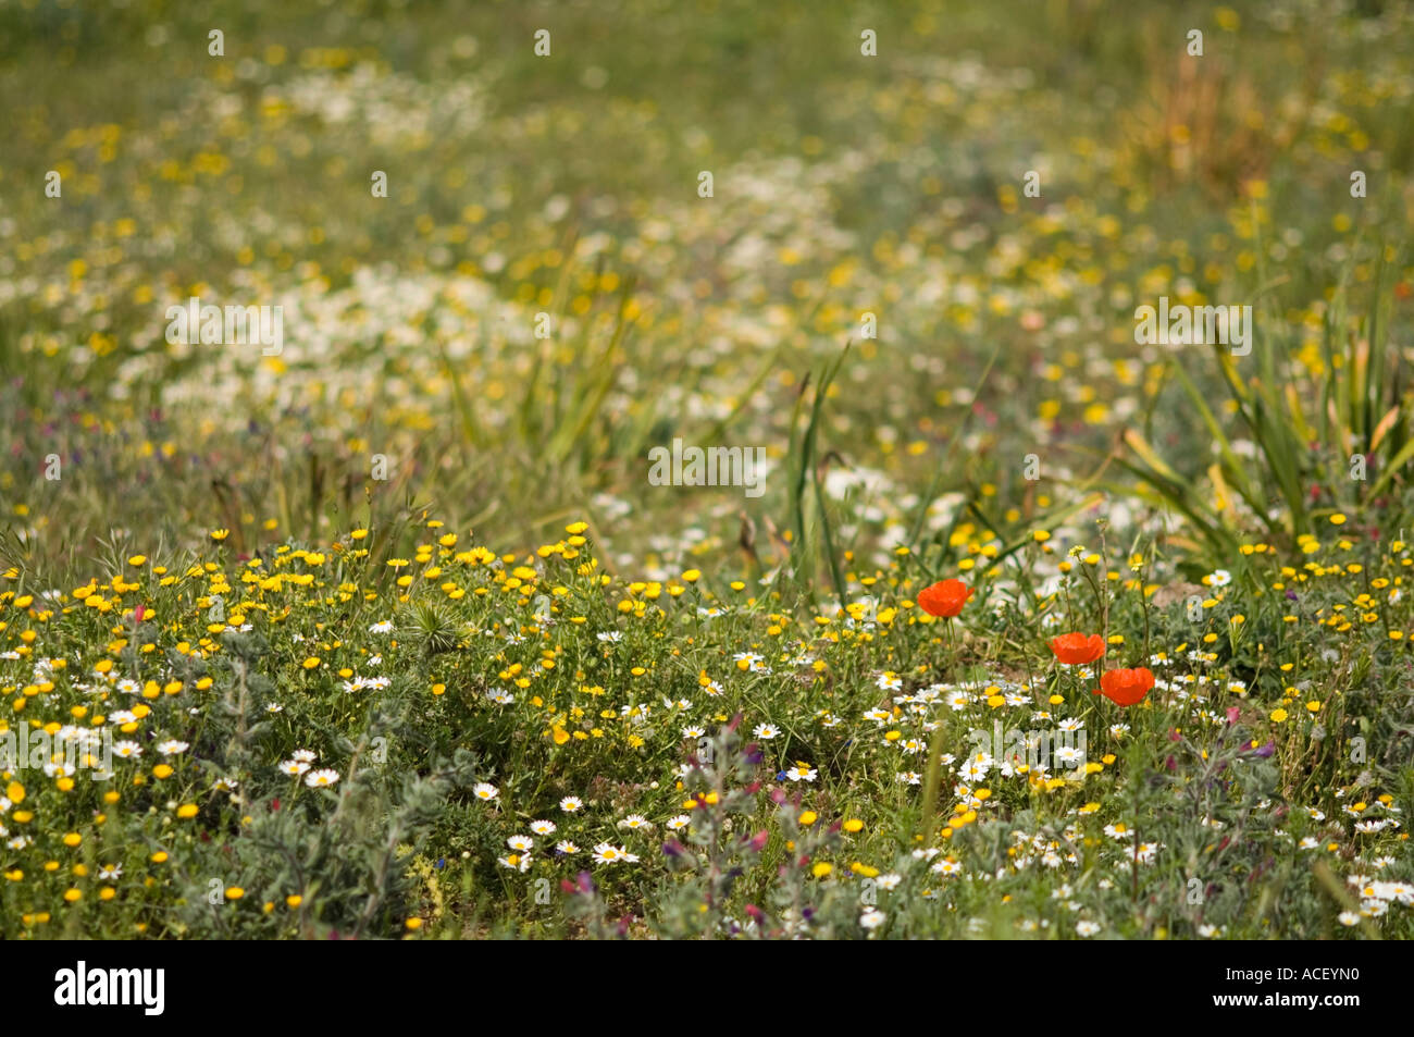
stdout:
<svg viewBox="0 0 1414 1037">
<path fill-rule="evenodd" d="M 1359 317 L 1349 314 L 1345 283 L 1338 286 L 1322 321 L 1316 378 L 1295 369 L 1297 331 L 1281 325 L 1275 313 L 1258 323 L 1250 357 L 1234 358 L 1215 345 L 1236 426 L 1219 420 L 1198 379 L 1175 364 L 1172 373 L 1217 457 L 1202 475 L 1185 474 L 1176 458 L 1165 460 L 1138 429 L 1127 429 L 1128 454 L 1117 463 L 1143 480 L 1131 492 L 1182 514 L 1203 548 L 1229 560 L 1244 525 L 1281 543 L 1338 514 L 1389 535 L 1407 528 L 1414 461 L 1408 372 L 1390 341 L 1393 291 L 1383 277 L 1377 283 L 1369 311 Z M 1239 450 L 1239 440 L 1254 450 Z M 1240 502 L 1247 518 L 1239 514 Z"/>
</svg>

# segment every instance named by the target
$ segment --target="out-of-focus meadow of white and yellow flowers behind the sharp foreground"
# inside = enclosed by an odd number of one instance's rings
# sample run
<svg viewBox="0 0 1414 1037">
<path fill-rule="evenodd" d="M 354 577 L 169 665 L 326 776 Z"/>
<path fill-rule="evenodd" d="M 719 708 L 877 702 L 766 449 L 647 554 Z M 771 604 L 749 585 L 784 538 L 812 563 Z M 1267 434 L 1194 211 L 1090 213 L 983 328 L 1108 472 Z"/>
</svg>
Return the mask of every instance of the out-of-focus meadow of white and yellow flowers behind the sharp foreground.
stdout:
<svg viewBox="0 0 1414 1037">
<path fill-rule="evenodd" d="M 1192 531 L 1263 528 L 1282 487 L 1222 467 L 1267 450 L 1264 403 L 1302 412 L 1305 505 L 1352 504 L 1407 390 L 1411 42 L 1408 4 L 1325 0 L 11 0 L 10 549 L 434 505 L 506 549 L 583 516 L 652 576 L 769 566 L 822 519 L 858 559 L 1005 542 L 1094 489 L 1118 525 L 1169 491 Z M 1257 352 L 1135 345 L 1159 294 L 1251 304 Z M 280 306 L 283 352 L 168 344 L 192 296 Z M 649 485 L 674 437 L 764 447 L 765 495 Z"/>
</svg>

